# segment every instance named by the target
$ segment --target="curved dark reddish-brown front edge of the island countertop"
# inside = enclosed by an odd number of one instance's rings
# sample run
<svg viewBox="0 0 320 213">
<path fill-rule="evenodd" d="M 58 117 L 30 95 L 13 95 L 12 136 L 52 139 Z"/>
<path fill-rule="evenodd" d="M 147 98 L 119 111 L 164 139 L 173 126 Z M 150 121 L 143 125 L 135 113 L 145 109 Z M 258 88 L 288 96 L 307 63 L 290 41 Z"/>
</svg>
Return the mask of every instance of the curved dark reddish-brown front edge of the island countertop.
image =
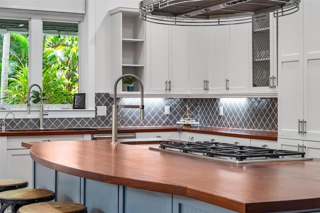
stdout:
<svg viewBox="0 0 320 213">
<path fill-rule="evenodd" d="M 147 141 L 151 142 L 151 140 L 153 141 L 154 139 L 155 138 L 151 138 L 151 139 L 146 138 L 146 139 L 140 139 L 140 140 L 144 140 L 144 142 L 147 143 Z M 157 138 L 157 140 L 159 139 L 161 138 Z M 130 140 L 138 140 L 138 139 L 130 139 Z M 163 139 L 163 140 L 165 141 L 166 139 Z M 123 141 L 126 141 L 126 140 L 124 139 Z M 30 148 L 32 145 L 38 144 L 38 143 L 39 142 L 22 142 L 21 145 L 23 147 Z M 52 163 L 50 161 L 37 157 L 32 152 L 30 152 L 30 156 L 34 161 L 38 162 L 39 164 L 45 167 L 58 170 L 64 173 L 68 173 L 71 175 L 80 176 L 80 177 L 97 180 L 97 181 L 102 181 L 106 183 L 139 188 L 139 189 L 188 196 L 197 200 L 208 202 L 208 203 L 225 207 L 238 212 L 246 212 L 246 213 L 249 213 L 249 212 L 255 213 L 255 212 L 262 212 L 262 211 L 270 212 L 270 211 L 274 211 L 275 209 L 277 211 L 289 211 L 289 210 L 296 210 L 297 206 L 303 206 L 308 209 L 320 208 L 320 198 L 242 203 L 236 200 L 229 199 L 227 197 L 215 196 L 209 193 L 205 193 L 203 191 L 192 189 L 187 186 L 98 174 L 95 172 L 90 172 L 82 169 L 76 169 L 76 168 Z M 320 158 L 313 158 L 313 160 L 320 162 Z"/>
</svg>

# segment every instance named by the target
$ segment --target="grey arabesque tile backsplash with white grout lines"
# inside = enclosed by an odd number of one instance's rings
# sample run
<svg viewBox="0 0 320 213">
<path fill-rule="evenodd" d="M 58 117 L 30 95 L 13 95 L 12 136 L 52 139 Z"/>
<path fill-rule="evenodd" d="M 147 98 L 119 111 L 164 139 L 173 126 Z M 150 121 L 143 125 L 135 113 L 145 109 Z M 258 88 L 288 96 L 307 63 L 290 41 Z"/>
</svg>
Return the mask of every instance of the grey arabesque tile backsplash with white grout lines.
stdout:
<svg viewBox="0 0 320 213">
<path fill-rule="evenodd" d="M 44 118 L 45 128 L 55 127 L 110 127 L 113 98 L 108 93 L 96 93 L 95 105 L 107 107 L 106 116 L 91 118 Z M 139 104 L 140 98 L 118 98 L 120 104 Z M 190 117 L 201 126 L 277 130 L 277 98 L 144 98 L 145 119 L 140 120 L 139 109 L 118 109 L 119 126 L 176 125 L 185 117 L 190 107 Z M 170 106 L 170 114 L 164 114 Z M 219 106 L 223 115 L 219 115 Z M 6 128 L 37 128 L 38 118 L 6 119 Z"/>
</svg>

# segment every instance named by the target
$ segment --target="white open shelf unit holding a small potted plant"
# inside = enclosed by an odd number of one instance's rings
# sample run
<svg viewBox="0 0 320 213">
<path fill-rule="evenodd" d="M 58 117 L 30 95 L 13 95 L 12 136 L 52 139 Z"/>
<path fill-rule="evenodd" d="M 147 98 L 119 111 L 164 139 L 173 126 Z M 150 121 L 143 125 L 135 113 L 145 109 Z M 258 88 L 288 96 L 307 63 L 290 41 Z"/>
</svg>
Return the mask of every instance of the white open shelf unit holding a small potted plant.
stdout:
<svg viewBox="0 0 320 213">
<path fill-rule="evenodd" d="M 109 11 L 111 15 L 111 83 L 123 74 L 136 75 L 144 83 L 144 21 L 137 8 L 117 7 Z M 134 91 L 127 91 L 127 84 L 118 83 L 118 93 L 134 94 L 140 91 L 137 82 Z"/>
</svg>

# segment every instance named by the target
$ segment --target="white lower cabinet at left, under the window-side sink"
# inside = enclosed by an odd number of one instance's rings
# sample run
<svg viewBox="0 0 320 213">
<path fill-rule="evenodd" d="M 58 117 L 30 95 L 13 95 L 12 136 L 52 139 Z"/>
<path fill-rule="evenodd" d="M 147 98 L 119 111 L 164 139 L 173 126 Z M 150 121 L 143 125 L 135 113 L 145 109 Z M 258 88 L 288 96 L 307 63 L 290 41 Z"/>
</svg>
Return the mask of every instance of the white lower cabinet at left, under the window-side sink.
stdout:
<svg viewBox="0 0 320 213">
<path fill-rule="evenodd" d="M 0 178 L 25 179 L 29 183 L 28 187 L 32 188 L 32 159 L 29 154 L 30 150 L 22 147 L 21 142 L 40 142 L 43 140 L 83 140 L 83 135 L 67 134 L 1 137 Z"/>
</svg>

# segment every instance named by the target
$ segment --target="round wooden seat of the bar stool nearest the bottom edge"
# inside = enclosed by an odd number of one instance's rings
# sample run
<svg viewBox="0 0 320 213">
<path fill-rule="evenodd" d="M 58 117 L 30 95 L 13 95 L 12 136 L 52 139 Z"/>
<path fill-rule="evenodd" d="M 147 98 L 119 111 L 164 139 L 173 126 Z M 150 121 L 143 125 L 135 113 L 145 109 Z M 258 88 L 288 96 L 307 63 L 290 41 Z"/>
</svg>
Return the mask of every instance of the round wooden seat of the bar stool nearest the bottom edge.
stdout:
<svg viewBox="0 0 320 213">
<path fill-rule="evenodd" d="M 86 206 L 76 202 L 37 202 L 19 208 L 19 213 L 86 213 Z"/>
</svg>

